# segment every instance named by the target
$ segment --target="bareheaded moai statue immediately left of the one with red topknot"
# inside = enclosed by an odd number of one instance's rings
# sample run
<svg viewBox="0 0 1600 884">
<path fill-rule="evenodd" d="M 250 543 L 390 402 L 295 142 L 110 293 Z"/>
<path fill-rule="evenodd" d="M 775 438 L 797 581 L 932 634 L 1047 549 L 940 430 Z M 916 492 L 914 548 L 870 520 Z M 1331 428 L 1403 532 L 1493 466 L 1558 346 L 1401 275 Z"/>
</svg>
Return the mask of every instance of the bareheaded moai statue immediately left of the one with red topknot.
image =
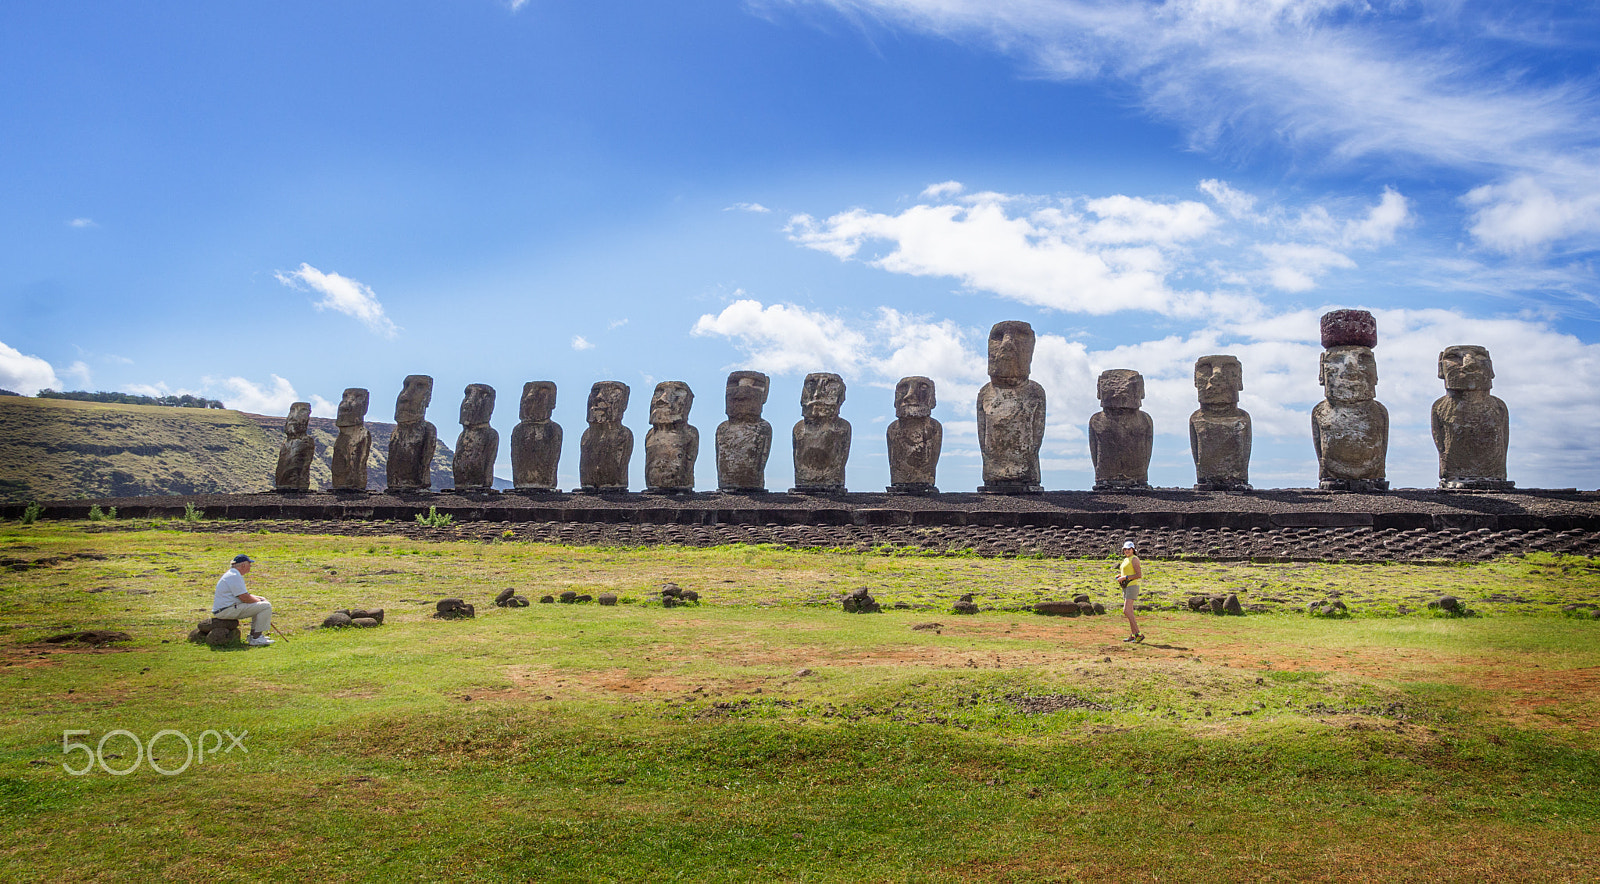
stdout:
<svg viewBox="0 0 1600 884">
<path fill-rule="evenodd" d="M 1245 367 L 1234 356 L 1195 360 L 1200 408 L 1189 415 L 1189 452 L 1197 492 L 1250 490 L 1250 412 L 1238 407 Z"/>
</svg>

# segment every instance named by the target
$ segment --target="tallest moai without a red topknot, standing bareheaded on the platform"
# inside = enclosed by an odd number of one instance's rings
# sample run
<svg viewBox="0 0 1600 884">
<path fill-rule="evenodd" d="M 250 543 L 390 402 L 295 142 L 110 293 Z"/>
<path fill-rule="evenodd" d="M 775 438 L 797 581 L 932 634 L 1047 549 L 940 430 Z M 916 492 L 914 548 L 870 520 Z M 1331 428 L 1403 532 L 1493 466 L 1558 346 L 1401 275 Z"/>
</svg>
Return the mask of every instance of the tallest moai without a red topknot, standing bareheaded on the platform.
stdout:
<svg viewBox="0 0 1600 884">
<path fill-rule="evenodd" d="M 1027 380 L 1034 327 L 997 322 L 989 330 L 989 383 L 978 391 L 978 447 L 990 495 L 1038 493 L 1038 448 L 1045 444 L 1045 388 Z"/>
</svg>

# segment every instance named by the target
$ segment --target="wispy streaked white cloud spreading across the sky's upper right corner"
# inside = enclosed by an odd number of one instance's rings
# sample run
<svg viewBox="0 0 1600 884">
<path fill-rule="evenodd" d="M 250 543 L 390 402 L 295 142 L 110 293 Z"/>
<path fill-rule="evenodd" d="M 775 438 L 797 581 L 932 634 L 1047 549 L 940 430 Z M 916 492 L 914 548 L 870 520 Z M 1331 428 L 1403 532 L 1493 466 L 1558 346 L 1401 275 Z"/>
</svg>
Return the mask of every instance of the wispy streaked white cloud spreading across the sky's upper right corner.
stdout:
<svg viewBox="0 0 1600 884">
<path fill-rule="evenodd" d="M 1480 175 L 1470 234 L 1494 250 L 1600 232 L 1595 80 L 1546 74 L 1587 70 L 1592 50 L 1558 6 L 1518 6 L 1512 29 L 1456 0 L 789 2 L 978 43 L 1030 75 L 1125 82 L 1195 147 Z"/>
</svg>

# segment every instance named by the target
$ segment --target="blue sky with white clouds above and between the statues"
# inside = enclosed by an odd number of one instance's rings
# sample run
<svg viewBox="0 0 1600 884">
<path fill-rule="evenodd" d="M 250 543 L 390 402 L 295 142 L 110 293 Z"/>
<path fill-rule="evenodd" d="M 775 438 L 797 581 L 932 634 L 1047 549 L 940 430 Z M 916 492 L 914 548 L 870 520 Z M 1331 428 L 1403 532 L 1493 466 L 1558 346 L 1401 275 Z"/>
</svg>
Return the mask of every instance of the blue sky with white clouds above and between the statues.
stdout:
<svg viewBox="0 0 1600 884">
<path fill-rule="evenodd" d="M 1190 368 L 1240 356 L 1258 487 L 1315 484 L 1317 317 L 1379 319 L 1389 477 L 1430 487 L 1438 351 L 1483 344 L 1510 479 L 1600 485 L 1600 16 L 1581 3 L 728 0 L 0 10 L 0 386 L 374 420 L 435 378 L 683 380 L 710 431 L 840 372 L 851 488 L 899 376 L 979 482 L 990 323 L 1040 335 L 1045 484 L 1093 484 L 1104 368 L 1189 485 Z M 498 472 L 509 476 L 509 452 Z"/>
</svg>

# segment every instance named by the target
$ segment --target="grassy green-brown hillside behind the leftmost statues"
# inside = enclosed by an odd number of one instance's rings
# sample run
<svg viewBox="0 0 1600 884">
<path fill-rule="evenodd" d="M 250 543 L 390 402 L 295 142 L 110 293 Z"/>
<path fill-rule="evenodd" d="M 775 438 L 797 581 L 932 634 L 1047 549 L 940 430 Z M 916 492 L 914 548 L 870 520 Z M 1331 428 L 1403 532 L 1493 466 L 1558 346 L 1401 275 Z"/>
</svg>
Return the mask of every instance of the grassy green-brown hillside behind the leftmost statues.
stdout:
<svg viewBox="0 0 1600 884">
<path fill-rule="evenodd" d="M 373 431 L 368 487 L 381 488 L 394 424 L 366 426 Z M 312 487 L 333 480 L 328 458 L 336 436 L 331 420 L 312 420 Z M 0 396 L 0 500 L 266 492 L 282 442 L 282 416 Z M 450 487 L 450 461 L 442 444 L 435 487 Z"/>
</svg>

